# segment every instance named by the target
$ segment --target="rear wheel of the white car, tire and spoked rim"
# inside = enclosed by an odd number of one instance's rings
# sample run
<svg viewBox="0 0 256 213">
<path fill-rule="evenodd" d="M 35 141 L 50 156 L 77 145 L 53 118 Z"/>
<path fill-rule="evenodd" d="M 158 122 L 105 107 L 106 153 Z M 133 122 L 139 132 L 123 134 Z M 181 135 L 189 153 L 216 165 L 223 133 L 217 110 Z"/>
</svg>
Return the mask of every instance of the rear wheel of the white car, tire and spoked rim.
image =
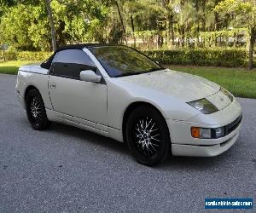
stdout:
<svg viewBox="0 0 256 213">
<path fill-rule="evenodd" d="M 45 130 L 49 127 L 44 101 L 37 89 L 30 89 L 26 95 L 26 115 L 34 130 Z"/>
</svg>

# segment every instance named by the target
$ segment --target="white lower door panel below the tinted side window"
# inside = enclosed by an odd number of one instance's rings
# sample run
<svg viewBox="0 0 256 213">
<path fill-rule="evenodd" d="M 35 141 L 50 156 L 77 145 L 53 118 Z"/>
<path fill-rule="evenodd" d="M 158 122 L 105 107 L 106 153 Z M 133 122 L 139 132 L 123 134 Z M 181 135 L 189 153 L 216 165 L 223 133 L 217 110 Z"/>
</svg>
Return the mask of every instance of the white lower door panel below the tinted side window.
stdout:
<svg viewBox="0 0 256 213">
<path fill-rule="evenodd" d="M 52 85 L 55 89 L 50 88 Z M 72 116 L 74 122 L 82 118 L 85 124 L 87 120 L 108 131 L 106 84 L 49 76 L 49 96 L 55 111 Z"/>
</svg>

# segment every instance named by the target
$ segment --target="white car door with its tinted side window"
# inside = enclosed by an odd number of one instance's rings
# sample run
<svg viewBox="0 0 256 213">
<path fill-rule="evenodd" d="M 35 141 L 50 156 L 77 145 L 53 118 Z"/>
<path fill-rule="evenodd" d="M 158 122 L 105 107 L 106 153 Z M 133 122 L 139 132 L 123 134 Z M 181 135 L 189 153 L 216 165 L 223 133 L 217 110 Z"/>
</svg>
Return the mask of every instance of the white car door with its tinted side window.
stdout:
<svg viewBox="0 0 256 213">
<path fill-rule="evenodd" d="M 82 70 L 100 74 L 83 50 L 66 49 L 55 55 L 49 72 L 49 96 L 58 117 L 108 131 L 107 84 L 80 81 Z"/>
</svg>

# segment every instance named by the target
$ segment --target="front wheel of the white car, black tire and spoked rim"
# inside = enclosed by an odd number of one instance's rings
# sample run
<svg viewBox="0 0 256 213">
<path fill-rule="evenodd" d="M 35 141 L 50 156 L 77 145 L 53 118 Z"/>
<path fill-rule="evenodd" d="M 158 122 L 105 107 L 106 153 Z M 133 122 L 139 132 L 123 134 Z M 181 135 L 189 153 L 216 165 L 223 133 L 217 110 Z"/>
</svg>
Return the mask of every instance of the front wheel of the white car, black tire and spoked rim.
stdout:
<svg viewBox="0 0 256 213">
<path fill-rule="evenodd" d="M 171 146 L 165 118 L 153 107 L 133 110 L 125 126 L 127 146 L 140 164 L 160 164 L 168 156 Z"/>
</svg>

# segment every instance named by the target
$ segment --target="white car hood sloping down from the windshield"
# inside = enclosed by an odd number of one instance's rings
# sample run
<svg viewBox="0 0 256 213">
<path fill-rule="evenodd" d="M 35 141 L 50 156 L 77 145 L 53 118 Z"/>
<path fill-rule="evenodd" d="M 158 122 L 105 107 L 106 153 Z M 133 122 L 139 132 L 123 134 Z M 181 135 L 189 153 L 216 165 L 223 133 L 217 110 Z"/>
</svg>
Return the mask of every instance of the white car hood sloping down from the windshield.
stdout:
<svg viewBox="0 0 256 213">
<path fill-rule="evenodd" d="M 185 102 L 195 101 L 216 94 L 220 87 L 205 78 L 169 69 L 119 78 L 133 87 L 156 89 Z"/>
</svg>

